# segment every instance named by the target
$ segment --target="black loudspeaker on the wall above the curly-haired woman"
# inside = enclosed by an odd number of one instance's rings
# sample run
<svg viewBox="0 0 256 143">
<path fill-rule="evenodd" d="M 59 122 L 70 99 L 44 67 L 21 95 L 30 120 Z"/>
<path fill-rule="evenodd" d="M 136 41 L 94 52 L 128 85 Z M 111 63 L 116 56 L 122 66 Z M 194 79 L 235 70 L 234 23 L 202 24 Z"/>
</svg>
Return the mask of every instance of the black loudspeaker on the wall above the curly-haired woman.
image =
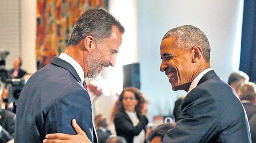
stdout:
<svg viewBox="0 0 256 143">
<path fill-rule="evenodd" d="M 123 88 L 129 86 L 140 89 L 139 63 L 123 65 Z"/>
</svg>

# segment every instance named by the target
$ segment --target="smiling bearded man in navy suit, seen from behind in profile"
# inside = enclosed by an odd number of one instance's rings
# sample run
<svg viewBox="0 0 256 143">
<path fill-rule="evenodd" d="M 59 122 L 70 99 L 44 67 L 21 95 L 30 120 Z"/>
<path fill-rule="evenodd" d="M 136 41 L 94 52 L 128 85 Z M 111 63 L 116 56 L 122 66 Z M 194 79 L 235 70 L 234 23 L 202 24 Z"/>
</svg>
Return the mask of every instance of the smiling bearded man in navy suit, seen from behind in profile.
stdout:
<svg viewBox="0 0 256 143">
<path fill-rule="evenodd" d="M 114 66 L 124 28 L 109 12 L 91 8 L 80 16 L 68 46 L 59 57 L 34 73 L 20 93 L 16 143 L 42 143 L 49 133 L 76 134 L 71 120 L 97 143 L 92 105 L 84 78 L 95 78 Z"/>
</svg>

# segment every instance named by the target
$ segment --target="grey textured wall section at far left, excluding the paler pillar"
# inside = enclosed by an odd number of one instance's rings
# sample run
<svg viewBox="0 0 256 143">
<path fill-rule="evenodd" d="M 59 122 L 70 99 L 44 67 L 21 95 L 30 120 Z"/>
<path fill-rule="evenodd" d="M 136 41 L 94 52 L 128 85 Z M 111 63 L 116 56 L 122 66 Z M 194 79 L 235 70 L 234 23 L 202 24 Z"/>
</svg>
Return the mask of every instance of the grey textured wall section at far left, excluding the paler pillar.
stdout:
<svg viewBox="0 0 256 143">
<path fill-rule="evenodd" d="M 0 0 L 0 51 L 7 50 L 6 69 L 12 68 L 12 61 L 20 57 L 20 0 Z"/>
</svg>

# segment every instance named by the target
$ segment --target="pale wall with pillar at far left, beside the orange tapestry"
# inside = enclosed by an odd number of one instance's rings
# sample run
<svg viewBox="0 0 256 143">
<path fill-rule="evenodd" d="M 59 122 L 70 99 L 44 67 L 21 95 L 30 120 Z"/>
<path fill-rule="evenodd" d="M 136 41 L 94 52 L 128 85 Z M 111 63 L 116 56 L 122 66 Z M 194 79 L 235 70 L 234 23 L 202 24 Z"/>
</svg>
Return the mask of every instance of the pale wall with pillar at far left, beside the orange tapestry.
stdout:
<svg viewBox="0 0 256 143">
<path fill-rule="evenodd" d="M 6 69 L 11 69 L 14 58 L 21 57 L 22 68 L 36 71 L 36 4 L 37 0 L 0 1 L 0 50 L 8 50 Z"/>
</svg>

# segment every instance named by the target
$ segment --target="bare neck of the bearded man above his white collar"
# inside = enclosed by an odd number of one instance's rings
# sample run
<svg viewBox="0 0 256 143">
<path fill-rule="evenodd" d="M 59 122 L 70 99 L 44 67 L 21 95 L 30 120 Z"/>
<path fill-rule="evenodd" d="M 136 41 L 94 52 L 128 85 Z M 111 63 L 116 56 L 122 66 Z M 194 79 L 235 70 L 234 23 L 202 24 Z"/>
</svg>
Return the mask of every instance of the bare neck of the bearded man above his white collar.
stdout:
<svg viewBox="0 0 256 143">
<path fill-rule="evenodd" d="M 66 50 L 64 51 L 65 54 L 68 54 L 70 57 L 72 57 L 74 60 L 78 62 L 78 64 L 83 68 L 84 70 L 84 76 L 87 77 L 88 74 L 88 64 L 86 61 L 87 57 L 87 51 L 81 50 L 81 43 L 73 46 L 68 46 Z"/>
</svg>

